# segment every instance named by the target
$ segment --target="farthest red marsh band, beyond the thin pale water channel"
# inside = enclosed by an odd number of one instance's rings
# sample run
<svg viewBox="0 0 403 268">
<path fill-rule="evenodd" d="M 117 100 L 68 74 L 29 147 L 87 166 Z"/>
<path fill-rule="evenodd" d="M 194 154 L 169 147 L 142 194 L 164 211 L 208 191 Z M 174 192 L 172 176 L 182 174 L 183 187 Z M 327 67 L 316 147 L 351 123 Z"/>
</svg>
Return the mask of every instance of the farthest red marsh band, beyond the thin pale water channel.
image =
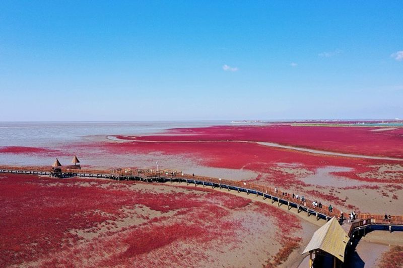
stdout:
<svg viewBox="0 0 403 268">
<path fill-rule="evenodd" d="M 342 153 L 403 158 L 403 128 L 339 126 L 214 126 L 172 129 L 159 136 L 121 139 L 154 141 L 263 141 Z M 168 135 L 166 135 L 168 134 Z"/>
</svg>

